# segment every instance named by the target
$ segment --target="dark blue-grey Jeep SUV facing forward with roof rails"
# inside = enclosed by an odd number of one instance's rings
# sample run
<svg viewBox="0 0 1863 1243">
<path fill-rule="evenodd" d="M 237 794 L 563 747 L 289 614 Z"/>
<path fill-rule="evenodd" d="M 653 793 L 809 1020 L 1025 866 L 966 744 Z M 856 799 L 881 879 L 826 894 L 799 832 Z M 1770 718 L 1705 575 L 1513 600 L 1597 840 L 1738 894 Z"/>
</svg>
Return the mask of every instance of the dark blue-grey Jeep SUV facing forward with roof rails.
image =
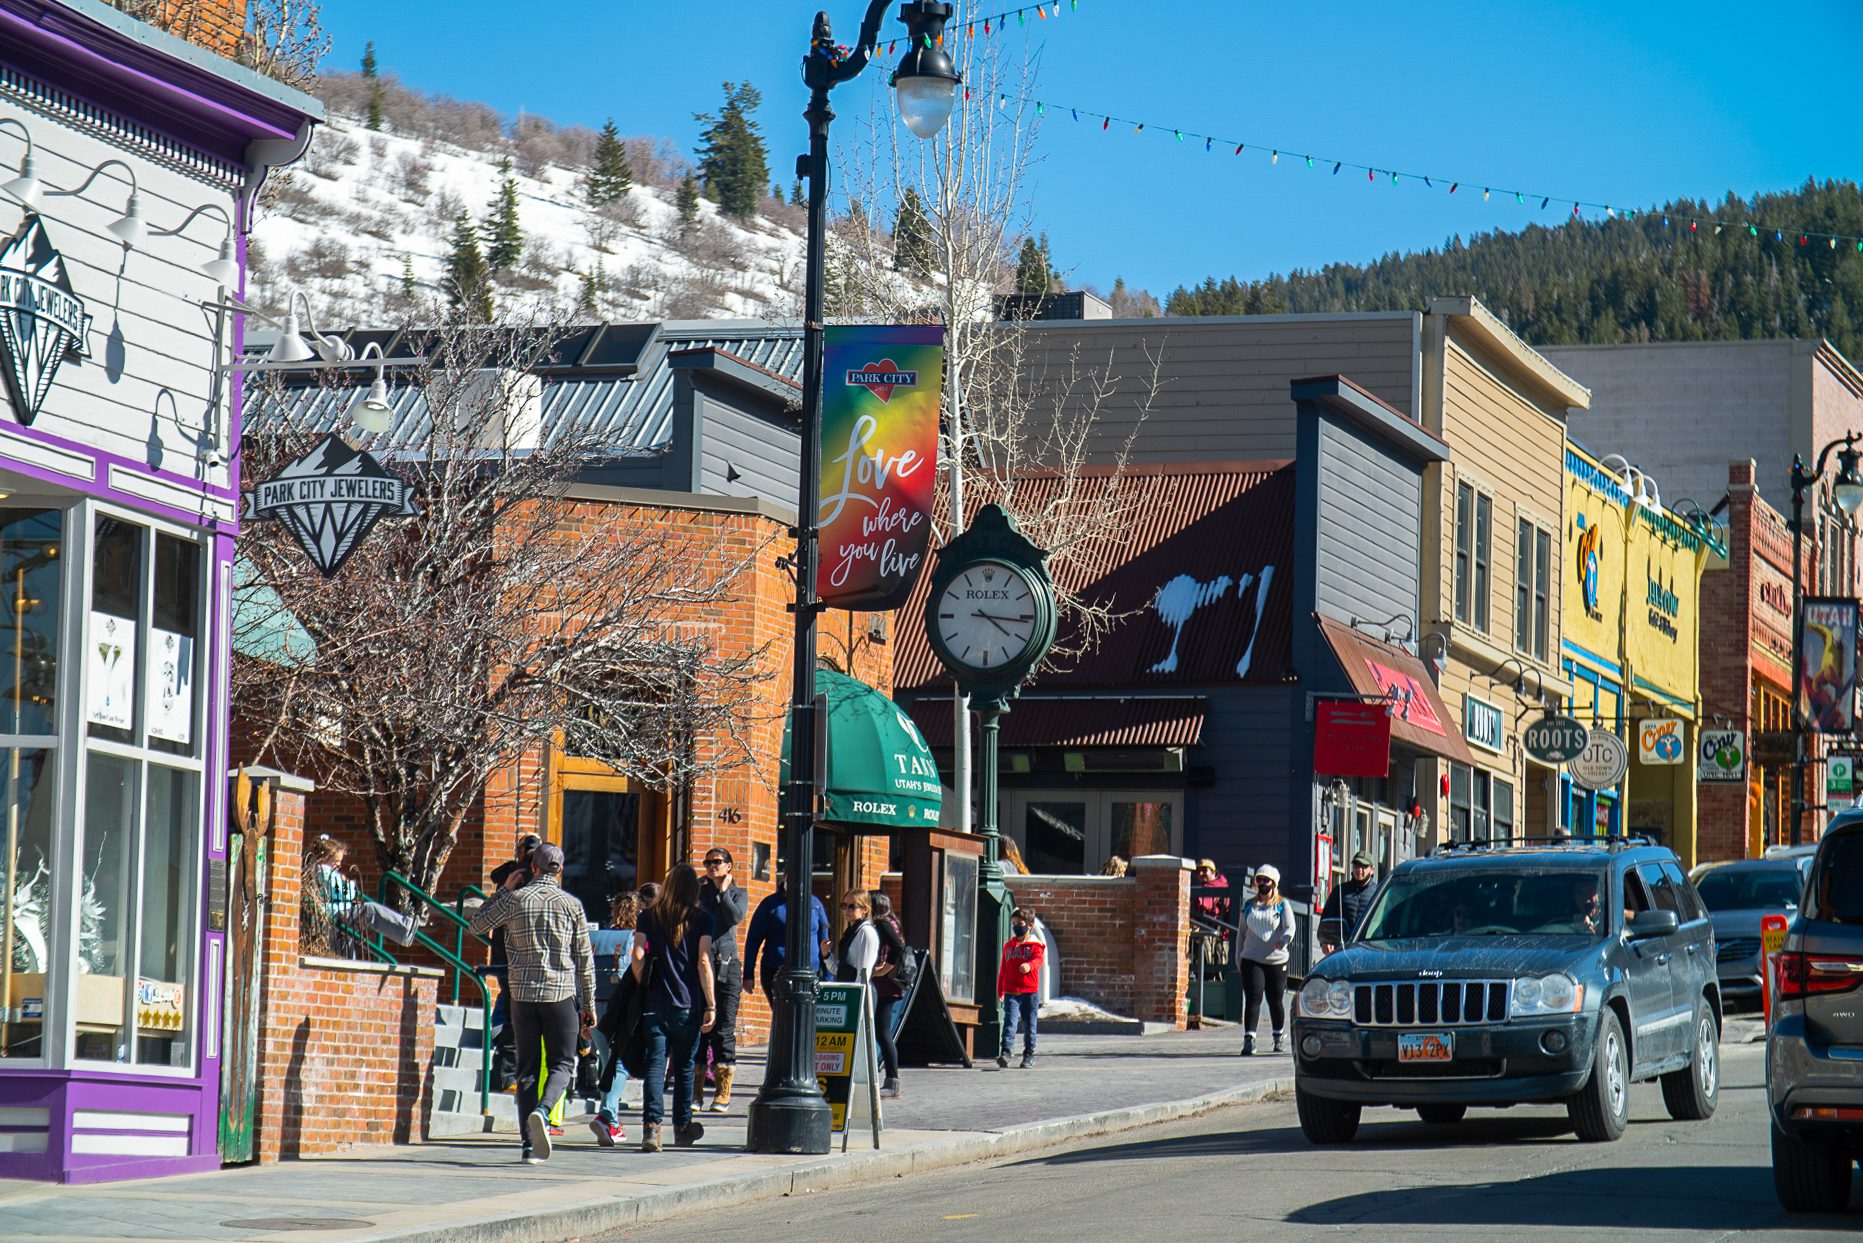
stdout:
<svg viewBox="0 0 1863 1243">
<path fill-rule="evenodd" d="M 1561 1101 L 1613 1141 L 1630 1085 L 1673 1118 L 1720 1092 L 1720 984 L 1707 908 L 1641 839 L 1451 846 L 1399 865 L 1295 1004 L 1295 1105 L 1315 1144 L 1366 1105 L 1453 1124 L 1470 1105 Z"/>
</svg>

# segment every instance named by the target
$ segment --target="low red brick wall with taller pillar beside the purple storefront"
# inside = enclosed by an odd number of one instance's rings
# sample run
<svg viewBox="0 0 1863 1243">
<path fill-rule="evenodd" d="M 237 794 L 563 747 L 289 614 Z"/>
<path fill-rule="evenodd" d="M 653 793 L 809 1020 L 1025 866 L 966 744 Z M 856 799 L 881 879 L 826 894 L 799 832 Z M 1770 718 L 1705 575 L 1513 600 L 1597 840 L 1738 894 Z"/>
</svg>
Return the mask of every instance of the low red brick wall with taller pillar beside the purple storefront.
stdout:
<svg viewBox="0 0 1863 1243">
<path fill-rule="evenodd" d="M 423 1139 L 438 980 L 322 967 L 298 950 L 304 796 L 274 785 L 261 952 L 259 1159 Z"/>
</svg>

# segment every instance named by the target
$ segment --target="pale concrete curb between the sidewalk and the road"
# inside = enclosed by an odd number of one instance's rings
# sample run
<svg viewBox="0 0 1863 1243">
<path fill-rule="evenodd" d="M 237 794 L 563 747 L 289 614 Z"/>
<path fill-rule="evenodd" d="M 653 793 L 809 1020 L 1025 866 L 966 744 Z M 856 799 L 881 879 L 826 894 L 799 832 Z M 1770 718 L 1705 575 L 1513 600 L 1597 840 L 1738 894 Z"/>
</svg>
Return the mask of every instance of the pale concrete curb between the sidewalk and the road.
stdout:
<svg viewBox="0 0 1863 1243">
<path fill-rule="evenodd" d="M 924 1141 L 909 1148 L 850 1152 L 846 1157 L 825 1157 L 779 1170 L 732 1174 L 686 1187 L 667 1187 L 665 1191 L 652 1191 L 648 1195 L 626 1198 L 600 1196 L 561 1204 L 544 1211 L 510 1213 L 466 1226 L 414 1226 L 358 1237 L 367 1237 L 371 1243 L 561 1243 L 563 1239 L 663 1223 L 700 1209 L 732 1208 L 812 1191 L 835 1191 L 883 1178 L 930 1174 L 958 1165 L 1013 1157 L 1075 1139 L 1194 1118 L 1226 1105 L 1248 1105 L 1276 1092 L 1291 1090 L 1291 1075 L 1265 1079 L 1183 1101 L 1127 1105 L 1123 1109 L 1105 1109 L 1073 1118 L 1028 1122 L 1002 1131 L 959 1131 L 948 1139 Z"/>
</svg>

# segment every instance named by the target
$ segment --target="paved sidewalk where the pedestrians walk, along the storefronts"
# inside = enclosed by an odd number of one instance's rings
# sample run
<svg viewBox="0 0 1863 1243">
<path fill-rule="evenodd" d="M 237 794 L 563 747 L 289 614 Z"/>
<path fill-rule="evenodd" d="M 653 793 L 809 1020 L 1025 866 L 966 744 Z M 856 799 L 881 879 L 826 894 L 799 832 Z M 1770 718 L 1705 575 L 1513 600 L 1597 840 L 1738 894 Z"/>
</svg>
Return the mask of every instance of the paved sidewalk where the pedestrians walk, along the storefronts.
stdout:
<svg viewBox="0 0 1863 1243">
<path fill-rule="evenodd" d="M 1287 1057 L 1239 1059 L 1233 1029 L 1166 1036 L 1047 1036 L 1034 1070 L 911 1070 L 905 1100 L 887 1101 L 881 1150 L 866 1135 L 846 1155 L 743 1152 L 747 1081 L 728 1114 L 704 1114 L 689 1150 L 602 1150 L 587 1126 L 542 1167 L 516 1161 L 509 1135 L 330 1157 L 190 1178 L 50 1187 L 0 1182 L 7 1239 L 328 1239 L 361 1243 L 553 1243 L 764 1196 L 822 1191 L 986 1157 L 1077 1135 L 1181 1118 L 1291 1086 Z M 624 1118 L 639 1141 L 639 1118 Z M 669 1127 L 671 1133 L 671 1127 Z"/>
</svg>

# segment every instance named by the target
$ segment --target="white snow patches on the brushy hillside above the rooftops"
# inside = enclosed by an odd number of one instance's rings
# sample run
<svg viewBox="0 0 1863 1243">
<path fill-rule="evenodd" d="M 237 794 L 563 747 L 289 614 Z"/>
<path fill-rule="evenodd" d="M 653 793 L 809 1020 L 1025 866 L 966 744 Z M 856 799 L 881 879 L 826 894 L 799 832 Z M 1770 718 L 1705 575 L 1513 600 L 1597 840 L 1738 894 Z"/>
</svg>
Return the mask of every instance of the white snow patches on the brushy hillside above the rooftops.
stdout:
<svg viewBox="0 0 1863 1243">
<path fill-rule="evenodd" d="M 319 328 L 386 324 L 440 298 L 453 222 L 483 224 L 503 151 L 371 132 L 332 114 L 306 158 L 270 196 L 252 231 L 250 298 L 283 309 L 304 291 Z M 600 317 L 790 317 L 801 309 L 803 218 L 734 222 L 714 203 L 682 237 L 671 184 L 641 184 L 596 214 L 579 168 L 514 170 L 524 255 L 496 276 L 499 311 L 587 319 L 583 281 L 596 276 Z M 602 237 L 605 250 L 596 250 Z M 406 296 L 412 272 L 414 300 Z"/>
</svg>

